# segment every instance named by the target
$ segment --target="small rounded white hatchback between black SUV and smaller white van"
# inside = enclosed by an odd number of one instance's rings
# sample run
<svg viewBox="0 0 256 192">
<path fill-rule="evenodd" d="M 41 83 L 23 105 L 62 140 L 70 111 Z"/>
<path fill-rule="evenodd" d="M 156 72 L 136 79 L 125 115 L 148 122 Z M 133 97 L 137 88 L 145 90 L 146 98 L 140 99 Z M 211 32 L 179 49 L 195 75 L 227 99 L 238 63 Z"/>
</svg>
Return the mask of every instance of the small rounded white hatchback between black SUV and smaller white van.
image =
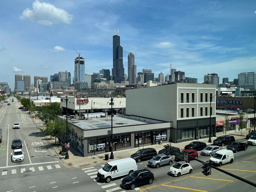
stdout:
<svg viewBox="0 0 256 192">
<path fill-rule="evenodd" d="M 168 173 L 173 176 L 181 176 L 186 173 L 192 173 L 193 168 L 189 165 L 189 163 L 185 161 L 180 161 L 170 167 Z"/>
</svg>

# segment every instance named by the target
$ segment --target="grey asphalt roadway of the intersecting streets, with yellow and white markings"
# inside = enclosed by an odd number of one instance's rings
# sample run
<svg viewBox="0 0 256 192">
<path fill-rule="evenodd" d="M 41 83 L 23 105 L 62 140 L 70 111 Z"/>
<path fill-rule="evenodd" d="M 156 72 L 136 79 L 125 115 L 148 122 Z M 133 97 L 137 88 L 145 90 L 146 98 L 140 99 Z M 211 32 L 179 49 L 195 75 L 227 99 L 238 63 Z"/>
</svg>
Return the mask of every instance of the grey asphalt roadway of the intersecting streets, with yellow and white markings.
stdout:
<svg viewBox="0 0 256 192">
<path fill-rule="evenodd" d="M 191 161 L 190 165 L 193 168 L 192 174 L 185 174 L 181 177 L 174 177 L 167 174 L 170 166 L 163 166 L 158 169 L 151 168 L 147 166 L 148 161 L 143 161 L 138 163 L 138 169 L 147 168 L 154 173 L 155 180 L 152 185 L 138 186 L 134 190 L 123 189 L 121 187 L 121 178 L 113 179 L 110 183 L 104 183 L 98 181 L 96 174 L 98 169 L 102 168 L 102 165 L 97 166 L 88 166 L 83 168 L 66 168 L 61 160 L 56 158 L 56 155 L 50 146 L 47 147 L 48 143 L 44 140 L 45 138 L 38 133 L 33 122 L 25 112 L 19 112 L 18 105 L 16 103 L 11 103 L 11 106 L 3 106 L 0 109 L 0 114 L 2 110 L 5 110 L 5 117 L 1 122 L 1 128 L 5 129 L 3 137 L 3 145 L 7 146 L 7 134 L 8 134 L 8 125 L 10 122 L 11 126 L 14 121 L 13 118 L 20 118 L 21 125 L 24 123 L 23 128 L 21 126 L 20 132 L 15 132 L 17 130 L 12 130 L 12 127 L 9 127 L 9 143 L 14 137 L 24 139 L 27 143 L 28 150 L 24 152 L 30 154 L 31 164 L 28 160 L 28 156 L 25 156 L 26 162 L 16 163 L 15 166 L 11 164 L 11 155 L 10 149 L 9 154 L 7 155 L 6 149 L 0 150 L 0 183 L 1 191 L 94 191 L 94 192 L 123 192 L 123 191 L 150 191 L 150 192 L 159 192 L 159 191 L 255 191 L 255 188 L 249 184 L 246 184 L 242 181 L 230 177 L 222 172 L 212 169 L 212 174 L 210 176 L 204 176 L 201 172 L 203 165 L 197 161 Z M 16 115 L 17 114 L 17 115 Z M 8 115 L 10 115 L 10 120 Z M 8 118 L 7 118 L 8 117 Z M 0 116 L 1 121 L 2 115 Z M 22 119 L 22 121 L 21 121 Z M 26 119 L 26 120 L 25 120 Z M 4 123 L 2 125 L 2 123 Z M 2 127 L 4 126 L 4 127 Z M 22 130 L 24 129 L 24 130 Z M 12 133 L 11 133 L 12 132 Z M 31 134 L 33 133 L 33 134 Z M 36 134 L 37 133 L 37 134 Z M 12 136 L 11 136 L 12 134 Z M 12 138 L 10 138 L 12 137 Z M 28 142 L 27 142 L 28 141 Z M 245 142 L 245 139 L 240 140 Z M 43 142 L 42 145 L 34 146 L 31 145 L 33 142 Z M 10 145 L 10 144 L 9 144 Z M 225 147 L 224 147 L 225 148 Z M 224 164 L 220 168 L 236 174 L 237 176 L 248 179 L 252 182 L 256 180 L 256 147 L 249 146 L 246 151 L 240 151 L 234 154 L 234 163 L 233 164 Z M 47 152 L 35 152 L 47 150 Z M 2 152 L 4 151 L 4 153 Z M 2 156 L 5 155 L 5 156 Z M 200 154 L 200 152 L 199 152 Z M 36 156 L 36 158 L 34 158 Z M 8 157 L 7 157 L 8 156 Z M 32 158 L 32 156 L 34 156 Z M 208 156 L 199 155 L 199 159 L 202 161 L 209 160 Z M 3 162 L 4 161 L 4 162 Z M 2 167 L 6 166 L 8 161 L 7 168 Z M 50 161 L 59 161 L 54 163 L 48 163 Z M 46 164 L 43 164 L 45 163 Z M 28 164 L 28 165 L 24 165 Z M 59 165 L 57 168 L 56 165 Z M 47 167 L 48 166 L 48 167 Z M 49 169 L 51 166 L 52 169 Z M 30 170 L 31 167 L 34 167 L 35 171 Z M 41 167 L 41 168 L 39 168 Z M 21 169 L 25 168 L 25 172 L 22 172 Z M 15 174 L 11 174 L 12 170 L 16 169 Z M 40 170 L 41 169 L 41 170 Z M 44 170 L 42 170 L 44 169 Z M 4 170 L 7 170 L 7 174 Z M 24 171 L 24 170 L 23 170 Z M 28 171 L 28 172 L 26 172 Z M 2 190 L 4 189 L 4 190 Z"/>
</svg>

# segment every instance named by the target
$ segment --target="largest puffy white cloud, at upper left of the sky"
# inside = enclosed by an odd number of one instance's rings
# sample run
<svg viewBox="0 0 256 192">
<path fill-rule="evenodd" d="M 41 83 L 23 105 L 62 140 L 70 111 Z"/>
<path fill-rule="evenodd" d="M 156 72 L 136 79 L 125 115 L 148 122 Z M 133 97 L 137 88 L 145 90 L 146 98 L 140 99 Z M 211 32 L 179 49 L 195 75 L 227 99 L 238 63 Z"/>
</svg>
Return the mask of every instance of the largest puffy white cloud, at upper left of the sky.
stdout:
<svg viewBox="0 0 256 192">
<path fill-rule="evenodd" d="M 71 17 L 64 9 L 59 9 L 50 3 L 41 3 L 36 0 L 32 4 L 33 9 L 24 9 L 21 20 L 36 21 L 39 24 L 51 26 L 54 23 L 70 23 Z"/>
</svg>

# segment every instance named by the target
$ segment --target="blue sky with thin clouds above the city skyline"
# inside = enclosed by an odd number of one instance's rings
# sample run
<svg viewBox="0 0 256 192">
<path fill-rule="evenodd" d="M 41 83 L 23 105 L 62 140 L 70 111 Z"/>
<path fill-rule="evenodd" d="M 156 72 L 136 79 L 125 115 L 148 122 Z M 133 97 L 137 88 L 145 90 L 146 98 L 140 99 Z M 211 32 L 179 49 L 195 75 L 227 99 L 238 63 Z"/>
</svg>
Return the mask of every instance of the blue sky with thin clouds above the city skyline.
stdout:
<svg viewBox="0 0 256 192">
<path fill-rule="evenodd" d="M 112 36 L 119 27 L 123 64 L 135 55 L 137 73 L 155 77 L 170 63 L 199 83 L 208 73 L 230 81 L 256 71 L 256 1 L 12 0 L 0 1 L 0 82 L 14 88 L 15 74 L 74 75 L 113 67 Z"/>
</svg>

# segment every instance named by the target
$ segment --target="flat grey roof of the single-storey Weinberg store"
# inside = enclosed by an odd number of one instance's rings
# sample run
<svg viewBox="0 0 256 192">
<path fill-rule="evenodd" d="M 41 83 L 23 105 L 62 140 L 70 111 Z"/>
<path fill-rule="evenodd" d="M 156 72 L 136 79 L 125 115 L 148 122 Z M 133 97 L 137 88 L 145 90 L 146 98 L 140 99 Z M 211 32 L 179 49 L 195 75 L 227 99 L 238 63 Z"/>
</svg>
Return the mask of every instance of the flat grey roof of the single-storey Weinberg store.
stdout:
<svg viewBox="0 0 256 192">
<path fill-rule="evenodd" d="M 64 117 L 61 117 L 64 119 Z M 79 127 L 82 130 L 104 129 L 111 127 L 111 115 L 109 117 L 88 117 L 88 120 L 69 119 L 68 122 Z M 143 125 L 151 123 L 163 123 L 166 121 L 159 121 L 154 119 L 146 119 L 137 116 L 127 116 L 116 114 L 113 116 L 113 127 L 123 127 L 129 125 Z"/>
</svg>

